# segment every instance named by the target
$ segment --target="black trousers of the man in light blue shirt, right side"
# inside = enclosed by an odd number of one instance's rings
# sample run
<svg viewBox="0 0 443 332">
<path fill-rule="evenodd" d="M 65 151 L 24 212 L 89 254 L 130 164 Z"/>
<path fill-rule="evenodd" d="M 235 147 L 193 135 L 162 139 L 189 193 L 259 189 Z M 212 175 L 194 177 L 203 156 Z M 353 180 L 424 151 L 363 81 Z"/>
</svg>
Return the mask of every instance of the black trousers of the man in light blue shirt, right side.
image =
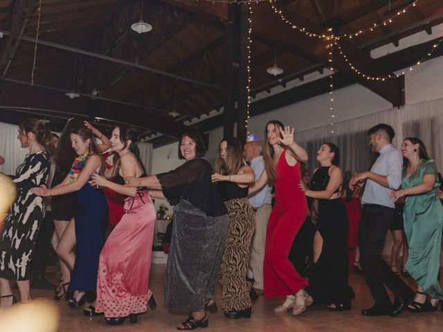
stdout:
<svg viewBox="0 0 443 332">
<path fill-rule="evenodd" d="M 383 205 L 364 204 L 359 225 L 360 263 L 376 306 L 391 306 L 386 285 L 395 296 L 406 295 L 410 288 L 392 272 L 381 258 L 386 233 L 395 219 L 395 210 Z"/>
</svg>

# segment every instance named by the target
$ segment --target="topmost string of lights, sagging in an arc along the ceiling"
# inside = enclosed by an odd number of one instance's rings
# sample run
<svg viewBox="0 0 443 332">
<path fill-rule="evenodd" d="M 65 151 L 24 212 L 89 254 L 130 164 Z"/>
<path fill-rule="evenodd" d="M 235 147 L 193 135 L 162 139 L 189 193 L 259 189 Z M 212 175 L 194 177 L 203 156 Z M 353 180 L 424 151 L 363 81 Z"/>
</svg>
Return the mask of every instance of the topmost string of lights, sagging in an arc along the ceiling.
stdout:
<svg viewBox="0 0 443 332">
<path fill-rule="evenodd" d="M 284 21 L 284 23 L 289 24 L 289 26 L 291 26 L 291 28 L 299 30 L 300 33 L 304 33 L 308 37 L 317 37 L 317 38 L 329 39 L 329 36 L 327 34 L 313 33 L 311 31 L 307 30 L 307 28 L 303 28 L 303 27 L 298 26 L 297 24 L 289 21 L 289 19 L 287 19 L 287 17 L 284 16 L 282 10 L 279 10 L 277 7 L 275 7 L 274 3 L 275 3 L 276 0 L 268 0 L 268 1 L 271 4 L 271 7 L 274 10 L 275 14 L 280 16 L 280 19 L 282 19 L 282 21 Z M 385 19 L 384 21 L 381 21 L 380 23 L 373 23 L 368 28 L 365 28 L 363 30 L 359 30 L 356 33 L 347 33 L 345 35 L 336 35 L 335 38 L 336 39 L 341 39 L 341 38 L 350 38 L 350 39 L 352 39 L 353 37 L 357 37 L 357 36 L 361 35 L 362 33 L 367 33 L 368 31 L 374 31 L 375 28 L 377 28 L 379 26 L 386 26 L 386 25 L 392 23 L 392 20 L 395 19 L 396 17 L 399 17 L 400 15 L 404 15 L 409 10 L 409 8 L 415 7 L 416 6 L 415 3 L 417 3 L 418 1 L 419 0 L 415 0 L 413 3 L 410 3 L 408 6 L 406 6 L 406 8 L 397 11 L 397 13 L 395 13 L 395 15 L 392 15 L 391 17 L 389 17 L 388 19 Z"/>
</svg>

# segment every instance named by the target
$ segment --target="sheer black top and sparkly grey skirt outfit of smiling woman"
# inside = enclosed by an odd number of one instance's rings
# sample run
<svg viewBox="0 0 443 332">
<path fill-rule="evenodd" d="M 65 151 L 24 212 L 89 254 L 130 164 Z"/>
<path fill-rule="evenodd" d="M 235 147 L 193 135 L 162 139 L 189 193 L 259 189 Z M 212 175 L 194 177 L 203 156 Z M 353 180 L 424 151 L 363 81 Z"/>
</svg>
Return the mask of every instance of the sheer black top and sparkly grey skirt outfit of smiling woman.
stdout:
<svg viewBox="0 0 443 332">
<path fill-rule="evenodd" d="M 165 303 L 173 310 L 202 311 L 215 298 L 215 283 L 229 217 L 203 158 L 158 174 L 174 207 L 172 241 L 165 275 Z"/>
</svg>

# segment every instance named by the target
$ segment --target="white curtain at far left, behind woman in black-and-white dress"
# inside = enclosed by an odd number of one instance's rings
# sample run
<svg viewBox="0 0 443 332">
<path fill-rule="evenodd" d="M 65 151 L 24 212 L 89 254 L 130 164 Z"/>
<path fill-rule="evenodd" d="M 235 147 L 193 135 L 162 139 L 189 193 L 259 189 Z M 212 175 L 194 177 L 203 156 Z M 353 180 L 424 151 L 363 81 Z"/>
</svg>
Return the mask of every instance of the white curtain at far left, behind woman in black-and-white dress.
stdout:
<svg viewBox="0 0 443 332">
<path fill-rule="evenodd" d="M 17 139 L 19 127 L 13 124 L 0 122 L 0 156 L 5 163 L 0 165 L 0 172 L 15 174 L 15 169 L 23 163 L 28 149 L 22 149 Z"/>
</svg>

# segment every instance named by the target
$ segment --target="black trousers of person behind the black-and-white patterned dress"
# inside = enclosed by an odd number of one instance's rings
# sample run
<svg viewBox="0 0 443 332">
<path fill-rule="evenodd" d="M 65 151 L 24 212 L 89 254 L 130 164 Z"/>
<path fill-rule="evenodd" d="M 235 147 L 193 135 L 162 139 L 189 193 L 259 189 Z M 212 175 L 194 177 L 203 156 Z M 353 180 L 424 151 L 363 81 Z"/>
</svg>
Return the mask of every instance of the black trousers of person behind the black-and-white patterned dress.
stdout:
<svg viewBox="0 0 443 332">
<path fill-rule="evenodd" d="M 49 245 L 54 232 L 53 212 L 46 211 L 35 243 L 35 254 L 33 257 L 33 276 L 43 276 L 49 258 Z"/>
</svg>

